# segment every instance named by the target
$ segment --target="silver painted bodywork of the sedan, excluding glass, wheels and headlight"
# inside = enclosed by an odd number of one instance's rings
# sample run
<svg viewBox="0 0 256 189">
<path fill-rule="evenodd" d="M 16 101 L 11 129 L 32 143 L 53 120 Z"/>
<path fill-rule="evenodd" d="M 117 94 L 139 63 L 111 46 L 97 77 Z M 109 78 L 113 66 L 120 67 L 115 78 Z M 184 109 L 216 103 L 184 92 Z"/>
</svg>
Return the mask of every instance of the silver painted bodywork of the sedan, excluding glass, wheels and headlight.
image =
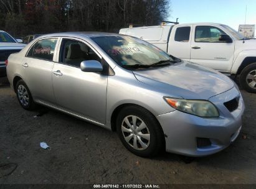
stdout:
<svg viewBox="0 0 256 189">
<path fill-rule="evenodd" d="M 77 118 L 111 129 L 116 108 L 136 104 L 148 109 L 158 119 L 166 135 L 166 150 L 178 154 L 201 156 L 227 147 L 239 134 L 244 102 L 234 82 L 217 71 L 189 62 L 152 70 L 131 71 L 120 67 L 90 37 L 120 34 L 67 32 L 42 35 L 21 52 L 9 57 L 7 76 L 13 85 L 21 77 L 37 103 L 58 109 Z M 52 62 L 26 57 L 37 40 L 56 38 Z M 75 39 L 91 47 L 110 65 L 115 75 L 83 72 L 59 62 L 62 39 Z M 23 67 L 27 63 L 28 67 Z M 56 73 L 55 71 L 59 71 Z M 219 109 L 219 118 L 200 118 L 175 110 L 163 96 L 208 99 Z M 239 107 L 230 113 L 225 101 L 240 96 Z M 212 146 L 198 149 L 197 137 L 209 137 Z"/>
</svg>

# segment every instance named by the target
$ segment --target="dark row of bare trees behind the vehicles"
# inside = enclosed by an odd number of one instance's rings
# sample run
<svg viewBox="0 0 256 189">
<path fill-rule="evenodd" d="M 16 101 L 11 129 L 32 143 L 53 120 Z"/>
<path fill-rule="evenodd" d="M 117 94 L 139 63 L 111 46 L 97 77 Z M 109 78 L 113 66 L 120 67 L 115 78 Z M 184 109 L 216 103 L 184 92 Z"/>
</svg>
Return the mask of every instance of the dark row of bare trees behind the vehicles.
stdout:
<svg viewBox="0 0 256 189">
<path fill-rule="evenodd" d="M 156 25 L 170 15 L 170 0 L 0 0 L 0 30 L 16 37 L 65 31 L 118 32 Z"/>
</svg>

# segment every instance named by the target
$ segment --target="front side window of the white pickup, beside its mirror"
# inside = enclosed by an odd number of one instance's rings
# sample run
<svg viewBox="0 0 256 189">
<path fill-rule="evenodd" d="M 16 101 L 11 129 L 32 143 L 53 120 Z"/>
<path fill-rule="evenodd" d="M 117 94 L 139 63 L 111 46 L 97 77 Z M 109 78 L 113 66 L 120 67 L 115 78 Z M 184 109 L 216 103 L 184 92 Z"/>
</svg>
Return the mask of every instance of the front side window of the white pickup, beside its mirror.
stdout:
<svg viewBox="0 0 256 189">
<path fill-rule="evenodd" d="M 219 36 L 225 34 L 221 29 L 214 26 L 197 26 L 195 42 L 220 43 Z"/>
</svg>

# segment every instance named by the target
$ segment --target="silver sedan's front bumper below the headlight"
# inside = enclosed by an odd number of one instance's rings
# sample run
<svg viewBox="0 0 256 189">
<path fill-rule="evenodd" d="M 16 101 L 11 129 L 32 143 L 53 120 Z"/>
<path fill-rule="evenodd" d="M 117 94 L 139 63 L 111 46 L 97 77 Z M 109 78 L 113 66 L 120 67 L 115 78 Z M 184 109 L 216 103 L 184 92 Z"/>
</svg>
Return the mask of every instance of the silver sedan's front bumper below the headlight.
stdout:
<svg viewBox="0 0 256 189">
<path fill-rule="evenodd" d="M 230 112 L 224 102 L 237 96 L 237 109 Z M 235 141 L 242 127 L 244 101 L 236 88 L 209 99 L 219 109 L 219 118 L 200 118 L 181 111 L 156 116 L 166 136 L 166 151 L 194 157 L 214 154 Z M 197 139 L 209 139 L 211 144 L 199 147 Z"/>
</svg>

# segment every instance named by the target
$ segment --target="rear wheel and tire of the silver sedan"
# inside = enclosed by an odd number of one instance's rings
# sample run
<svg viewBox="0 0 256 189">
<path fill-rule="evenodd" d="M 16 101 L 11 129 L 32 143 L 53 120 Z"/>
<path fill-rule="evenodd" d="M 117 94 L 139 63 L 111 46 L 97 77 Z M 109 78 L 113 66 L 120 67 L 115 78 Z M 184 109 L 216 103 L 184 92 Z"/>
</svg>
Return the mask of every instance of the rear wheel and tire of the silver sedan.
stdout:
<svg viewBox="0 0 256 189">
<path fill-rule="evenodd" d="M 15 91 L 19 104 L 21 104 L 22 108 L 26 110 L 33 110 L 36 108 L 31 92 L 23 80 L 17 81 Z"/>
</svg>

